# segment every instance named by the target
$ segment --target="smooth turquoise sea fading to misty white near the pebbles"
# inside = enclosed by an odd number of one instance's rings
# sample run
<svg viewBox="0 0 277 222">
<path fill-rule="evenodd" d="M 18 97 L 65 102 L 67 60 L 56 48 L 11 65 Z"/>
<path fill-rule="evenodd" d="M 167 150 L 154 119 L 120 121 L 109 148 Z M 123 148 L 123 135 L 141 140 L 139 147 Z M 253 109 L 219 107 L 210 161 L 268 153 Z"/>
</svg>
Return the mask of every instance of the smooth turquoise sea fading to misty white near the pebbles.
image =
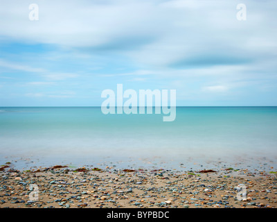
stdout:
<svg viewBox="0 0 277 222">
<path fill-rule="evenodd" d="M 100 107 L 0 108 L 0 164 L 276 167 L 277 107 L 177 107 L 161 114 L 102 114 Z"/>
</svg>

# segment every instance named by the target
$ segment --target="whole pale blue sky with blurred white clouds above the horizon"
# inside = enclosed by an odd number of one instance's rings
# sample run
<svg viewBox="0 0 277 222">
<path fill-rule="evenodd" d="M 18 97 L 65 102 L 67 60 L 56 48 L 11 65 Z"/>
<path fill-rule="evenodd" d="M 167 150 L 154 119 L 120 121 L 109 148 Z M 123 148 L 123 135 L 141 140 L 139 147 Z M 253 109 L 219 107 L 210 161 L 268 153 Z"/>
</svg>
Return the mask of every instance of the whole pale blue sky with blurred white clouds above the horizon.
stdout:
<svg viewBox="0 0 277 222">
<path fill-rule="evenodd" d="M 117 84 L 176 89 L 180 106 L 277 105 L 277 1 L 0 4 L 2 107 L 98 106 Z"/>
</svg>

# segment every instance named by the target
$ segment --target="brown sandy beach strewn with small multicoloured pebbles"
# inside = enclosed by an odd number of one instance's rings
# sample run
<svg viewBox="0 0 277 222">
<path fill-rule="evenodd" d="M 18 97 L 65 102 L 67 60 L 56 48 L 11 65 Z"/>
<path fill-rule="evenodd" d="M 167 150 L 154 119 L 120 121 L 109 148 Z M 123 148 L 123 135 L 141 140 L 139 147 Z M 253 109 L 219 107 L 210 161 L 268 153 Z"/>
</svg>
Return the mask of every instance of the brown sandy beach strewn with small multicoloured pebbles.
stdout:
<svg viewBox="0 0 277 222">
<path fill-rule="evenodd" d="M 277 207 L 274 169 L 213 172 L 54 166 L 18 171 L 6 164 L 0 178 L 1 208 Z M 247 191 L 242 200 L 237 196 L 240 184 Z"/>
</svg>

